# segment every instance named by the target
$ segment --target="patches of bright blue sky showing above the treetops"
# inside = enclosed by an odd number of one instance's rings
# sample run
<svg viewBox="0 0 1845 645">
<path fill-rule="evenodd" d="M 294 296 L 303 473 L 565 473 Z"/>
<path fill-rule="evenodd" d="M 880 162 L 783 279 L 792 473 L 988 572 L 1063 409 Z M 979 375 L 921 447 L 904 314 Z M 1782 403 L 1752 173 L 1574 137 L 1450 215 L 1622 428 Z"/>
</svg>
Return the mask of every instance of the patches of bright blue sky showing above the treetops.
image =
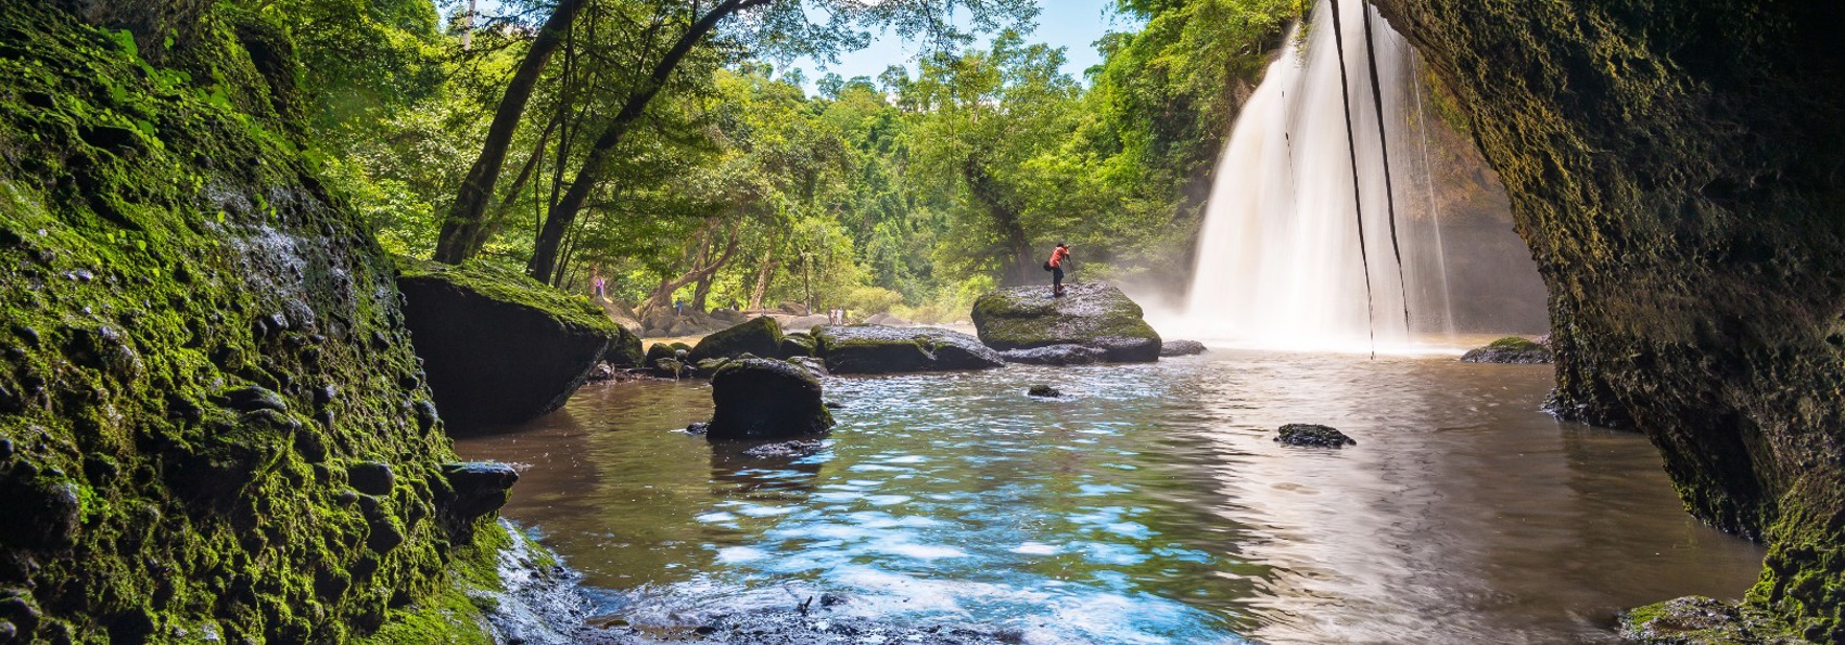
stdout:
<svg viewBox="0 0 1845 645">
<path fill-rule="evenodd" d="M 1135 28 L 1129 18 L 1114 15 L 1114 0 L 1039 0 L 1037 4 L 1041 7 L 1037 29 L 1026 35 L 1026 42 L 1046 42 L 1065 48 L 1066 63 L 1063 70 L 1077 81 L 1083 79 L 1083 70 L 1101 63 L 1101 53 L 1096 52 L 1094 44 L 1101 35 Z M 919 53 L 915 42 L 904 42 L 895 33 L 875 33 L 873 37 L 876 41 L 871 42 L 871 48 L 839 55 L 838 63 L 821 64 L 814 59 L 799 59 L 793 61 L 793 66 L 801 68 L 806 76 L 808 90 L 827 72 L 849 79 L 854 76 L 876 79 L 891 64 L 915 68 Z"/>
</svg>

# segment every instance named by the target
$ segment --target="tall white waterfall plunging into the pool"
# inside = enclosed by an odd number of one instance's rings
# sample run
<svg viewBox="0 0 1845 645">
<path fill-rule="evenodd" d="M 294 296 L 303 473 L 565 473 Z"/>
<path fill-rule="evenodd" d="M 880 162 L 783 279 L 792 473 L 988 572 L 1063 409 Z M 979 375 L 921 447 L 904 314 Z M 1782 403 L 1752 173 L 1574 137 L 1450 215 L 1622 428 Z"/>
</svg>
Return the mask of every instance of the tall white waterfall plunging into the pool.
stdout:
<svg viewBox="0 0 1845 645">
<path fill-rule="evenodd" d="M 1304 44 L 1288 37 L 1223 146 L 1186 300 L 1186 326 L 1194 334 L 1255 346 L 1360 348 L 1373 343 L 1375 332 L 1376 345 L 1393 346 L 1408 345 L 1411 332 L 1445 330 L 1452 319 L 1443 311 L 1450 299 L 1435 241 L 1439 227 L 1432 223 L 1434 195 L 1424 205 L 1404 192 L 1430 181 L 1426 158 L 1402 155 L 1426 146 L 1410 138 L 1426 133 L 1424 123 L 1410 125 L 1417 120 L 1419 92 L 1411 48 L 1369 4 L 1345 2 L 1341 9 L 1351 26 L 1343 52 L 1334 42 L 1330 7 L 1319 2 Z M 1365 70 L 1365 39 L 1352 37 L 1362 33 L 1360 20 L 1376 20 L 1376 92 L 1387 127 L 1378 129 L 1371 77 L 1351 74 L 1349 138 L 1334 55 L 1345 55 L 1352 70 Z M 1391 195 L 1384 182 L 1384 136 L 1400 179 L 1395 203 L 1404 216 L 1402 265 L 1386 216 Z M 1363 236 L 1352 203 L 1352 140 Z M 1360 240 L 1371 260 L 1369 276 Z"/>
</svg>

